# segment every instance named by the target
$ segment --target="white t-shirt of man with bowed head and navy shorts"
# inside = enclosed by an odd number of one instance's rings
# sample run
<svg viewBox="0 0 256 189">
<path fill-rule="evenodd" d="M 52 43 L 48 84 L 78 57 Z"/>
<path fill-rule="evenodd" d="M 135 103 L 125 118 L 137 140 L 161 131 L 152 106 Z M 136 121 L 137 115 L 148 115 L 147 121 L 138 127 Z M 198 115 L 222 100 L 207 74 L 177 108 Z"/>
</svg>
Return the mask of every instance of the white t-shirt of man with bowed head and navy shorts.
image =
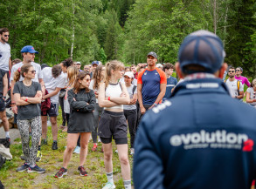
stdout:
<svg viewBox="0 0 256 189">
<path fill-rule="evenodd" d="M 52 91 L 55 91 L 57 87 L 64 88 L 64 86 L 65 86 L 65 78 L 62 74 L 60 74 L 58 78 L 52 77 L 52 80 L 50 81 L 50 83 L 45 84 L 45 88 L 49 93 L 51 93 Z M 51 97 L 51 103 L 52 104 L 59 103 L 59 92 L 57 95 L 54 95 Z"/>
</svg>

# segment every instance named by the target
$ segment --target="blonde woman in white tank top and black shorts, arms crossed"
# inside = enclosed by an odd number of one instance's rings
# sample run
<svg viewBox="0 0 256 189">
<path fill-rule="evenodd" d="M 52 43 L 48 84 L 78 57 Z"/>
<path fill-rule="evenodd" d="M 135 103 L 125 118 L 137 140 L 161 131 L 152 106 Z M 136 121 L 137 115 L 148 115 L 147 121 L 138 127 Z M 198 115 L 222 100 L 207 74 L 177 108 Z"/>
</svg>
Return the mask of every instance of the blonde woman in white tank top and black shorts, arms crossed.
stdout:
<svg viewBox="0 0 256 189">
<path fill-rule="evenodd" d="M 100 84 L 99 105 L 104 107 L 100 118 L 98 134 L 104 150 L 104 164 L 107 184 L 103 189 L 115 188 L 113 180 L 112 138 L 114 138 L 121 163 L 121 175 L 126 189 L 131 188 L 130 165 L 128 161 L 128 125 L 123 113 L 123 105 L 130 103 L 125 84 L 119 83 L 124 64 L 117 60 L 106 64 L 105 83 Z"/>
</svg>

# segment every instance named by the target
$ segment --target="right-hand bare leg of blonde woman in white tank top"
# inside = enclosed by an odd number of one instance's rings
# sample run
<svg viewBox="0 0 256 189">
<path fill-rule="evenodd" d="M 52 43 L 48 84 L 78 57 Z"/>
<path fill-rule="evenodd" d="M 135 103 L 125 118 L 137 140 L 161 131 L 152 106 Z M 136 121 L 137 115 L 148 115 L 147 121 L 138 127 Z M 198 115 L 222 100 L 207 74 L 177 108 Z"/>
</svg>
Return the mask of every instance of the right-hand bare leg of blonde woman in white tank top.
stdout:
<svg viewBox="0 0 256 189">
<path fill-rule="evenodd" d="M 116 145 L 121 164 L 121 176 L 124 180 L 131 179 L 131 170 L 128 160 L 128 145 Z M 105 149 L 104 149 L 105 150 Z"/>
</svg>

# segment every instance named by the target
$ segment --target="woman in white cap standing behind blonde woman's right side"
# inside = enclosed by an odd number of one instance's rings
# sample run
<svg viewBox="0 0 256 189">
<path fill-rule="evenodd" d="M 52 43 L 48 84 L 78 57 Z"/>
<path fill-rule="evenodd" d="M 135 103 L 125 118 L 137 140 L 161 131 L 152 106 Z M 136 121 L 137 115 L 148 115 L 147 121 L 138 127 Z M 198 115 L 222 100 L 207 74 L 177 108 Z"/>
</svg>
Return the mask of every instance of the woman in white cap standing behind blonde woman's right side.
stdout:
<svg viewBox="0 0 256 189">
<path fill-rule="evenodd" d="M 135 142 L 136 122 L 137 122 L 137 108 L 135 105 L 137 102 L 137 86 L 135 84 L 132 84 L 133 79 L 134 79 L 134 74 L 132 71 L 127 71 L 124 74 L 124 82 L 129 94 L 130 103 L 128 105 L 123 105 L 123 111 L 124 111 L 125 118 L 127 118 L 128 120 L 131 155 L 135 154 L 134 142 Z"/>
</svg>

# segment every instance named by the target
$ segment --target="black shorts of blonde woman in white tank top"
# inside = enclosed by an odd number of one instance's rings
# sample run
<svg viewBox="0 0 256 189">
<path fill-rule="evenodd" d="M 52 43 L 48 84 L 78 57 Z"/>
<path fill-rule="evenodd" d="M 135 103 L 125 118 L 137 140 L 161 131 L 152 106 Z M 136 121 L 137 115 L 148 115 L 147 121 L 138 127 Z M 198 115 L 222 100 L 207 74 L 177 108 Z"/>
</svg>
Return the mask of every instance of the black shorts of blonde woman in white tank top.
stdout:
<svg viewBox="0 0 256 189">
<path fill-rule="evenodd" d="M 102 143 L 108 144 L 114 138 L 117 145 L 128 144 L 128 125 L 123 112 L 103 111 L 100 117 L 98 135 Z"/>
</svg>

